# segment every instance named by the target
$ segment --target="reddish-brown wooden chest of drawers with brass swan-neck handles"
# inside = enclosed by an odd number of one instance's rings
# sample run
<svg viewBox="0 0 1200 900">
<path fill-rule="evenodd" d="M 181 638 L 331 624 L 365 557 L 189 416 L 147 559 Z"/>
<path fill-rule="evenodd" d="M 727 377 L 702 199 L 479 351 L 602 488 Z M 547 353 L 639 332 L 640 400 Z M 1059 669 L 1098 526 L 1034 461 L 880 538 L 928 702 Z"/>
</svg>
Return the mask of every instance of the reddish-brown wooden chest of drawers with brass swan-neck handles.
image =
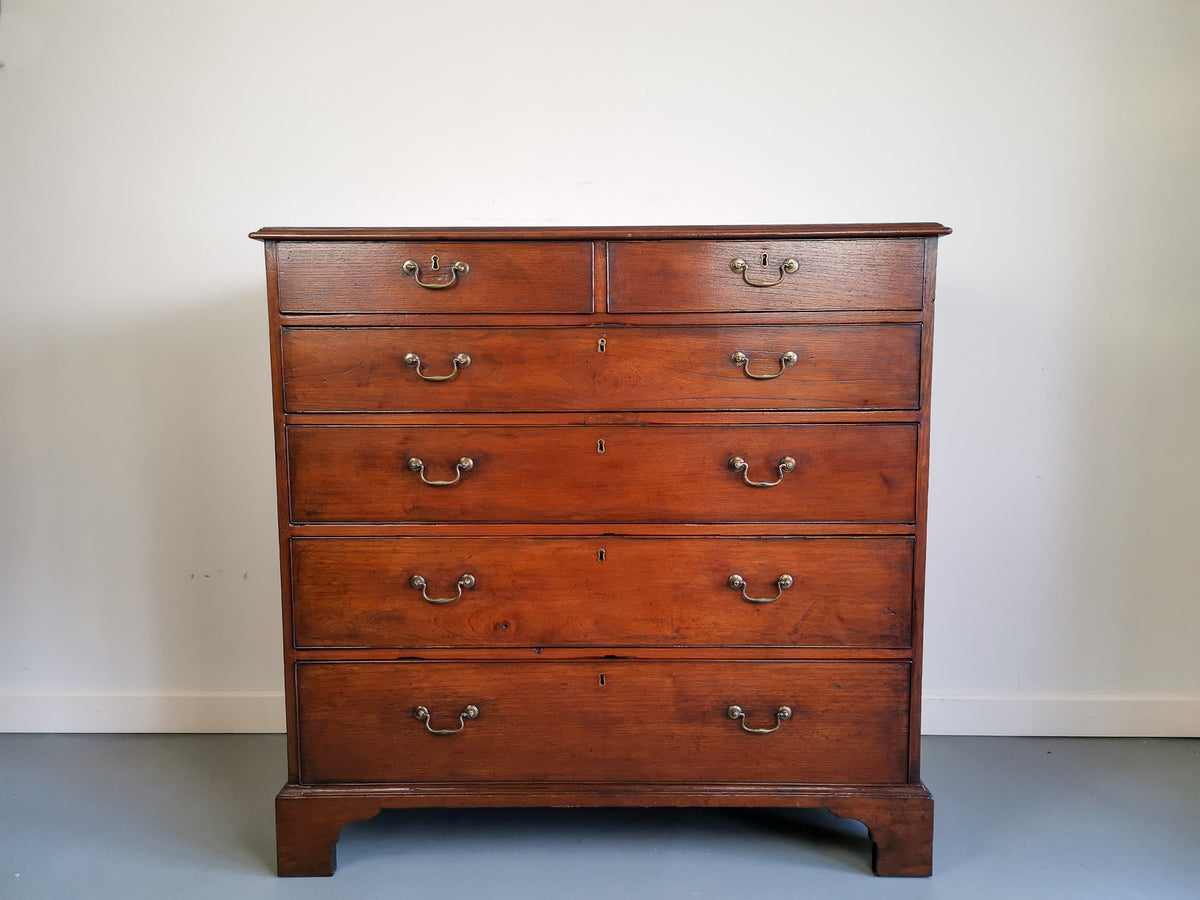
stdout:
<svg viewBox="0 0 1200 900">
<path fill-rule="evenodd" d="M 938 224 L 265 242 L 280 875 L 413 806 L 816 806 L 928 875 Z"/>
</svg>

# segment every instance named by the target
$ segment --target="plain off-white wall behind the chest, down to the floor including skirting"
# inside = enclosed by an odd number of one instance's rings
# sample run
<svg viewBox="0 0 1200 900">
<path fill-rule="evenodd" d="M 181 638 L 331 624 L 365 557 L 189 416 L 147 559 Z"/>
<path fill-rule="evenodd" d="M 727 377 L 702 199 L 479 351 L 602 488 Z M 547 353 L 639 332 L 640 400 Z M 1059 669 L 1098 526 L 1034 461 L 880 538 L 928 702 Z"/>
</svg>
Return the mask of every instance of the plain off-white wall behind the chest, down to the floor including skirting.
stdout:
<svg viewBox="0 0 1200 900">
<path fill-rule="evenodd" d="M 938 220 L 926 730 L 1200 733 L 1200 4 L 4 0 L 0 730 L 282 727 L 262 224 Z"/>
</svg>

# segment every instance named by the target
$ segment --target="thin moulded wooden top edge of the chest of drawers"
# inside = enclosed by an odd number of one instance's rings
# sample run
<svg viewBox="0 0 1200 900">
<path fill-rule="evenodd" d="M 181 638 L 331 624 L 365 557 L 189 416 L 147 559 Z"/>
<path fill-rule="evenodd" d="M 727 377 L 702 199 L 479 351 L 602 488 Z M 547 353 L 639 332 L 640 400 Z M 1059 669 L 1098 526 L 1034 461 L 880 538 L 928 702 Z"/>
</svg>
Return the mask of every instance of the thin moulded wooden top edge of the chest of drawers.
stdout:
<svg viewBox="0 0 1200 900">
<path fill-rule="evenodd" d="M 466 228 L 259 228 L 260 241 L 361 240 L 706 240 L 781 238 L 924 238 L 949 234 L 937 222 L 791 226 L 466 227 Z"/>
</svg>

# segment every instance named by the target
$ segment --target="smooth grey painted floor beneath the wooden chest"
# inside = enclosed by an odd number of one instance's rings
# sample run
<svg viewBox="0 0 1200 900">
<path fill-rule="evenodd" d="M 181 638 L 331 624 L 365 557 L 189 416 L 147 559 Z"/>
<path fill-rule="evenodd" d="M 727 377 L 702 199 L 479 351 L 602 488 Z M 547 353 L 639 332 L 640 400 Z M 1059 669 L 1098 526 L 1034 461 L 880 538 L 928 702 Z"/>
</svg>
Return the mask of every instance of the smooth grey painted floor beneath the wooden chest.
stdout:
<svg viewBox="0 0 1200 900">
<path fill-rule="evenodd" d="M 932 878 L 822 811 L 416 810 L 275 877 L 278 736 L 0 734 L 0 898 L 1200 898 L 1200 740 L 926 738 Z"/>
</svg>

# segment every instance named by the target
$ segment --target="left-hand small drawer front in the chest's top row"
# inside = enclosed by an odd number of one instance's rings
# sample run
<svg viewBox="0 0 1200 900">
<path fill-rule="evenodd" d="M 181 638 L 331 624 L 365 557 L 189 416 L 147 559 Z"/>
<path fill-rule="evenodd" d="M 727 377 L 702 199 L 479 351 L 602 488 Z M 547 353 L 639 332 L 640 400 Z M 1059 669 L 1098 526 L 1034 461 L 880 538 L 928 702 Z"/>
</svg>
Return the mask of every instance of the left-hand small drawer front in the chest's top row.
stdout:
<svg viewBox="0 0 1200 900">
<path fill-rule="evenodd" d="M 415 271 L 406 270 L 408 260 Z M 456 263 L 467 271 L 457 271 Z M 589 242 L 283 241 L 276 266 L 283 313 L 586 313 L 593 307 Z"/>
</svg>

